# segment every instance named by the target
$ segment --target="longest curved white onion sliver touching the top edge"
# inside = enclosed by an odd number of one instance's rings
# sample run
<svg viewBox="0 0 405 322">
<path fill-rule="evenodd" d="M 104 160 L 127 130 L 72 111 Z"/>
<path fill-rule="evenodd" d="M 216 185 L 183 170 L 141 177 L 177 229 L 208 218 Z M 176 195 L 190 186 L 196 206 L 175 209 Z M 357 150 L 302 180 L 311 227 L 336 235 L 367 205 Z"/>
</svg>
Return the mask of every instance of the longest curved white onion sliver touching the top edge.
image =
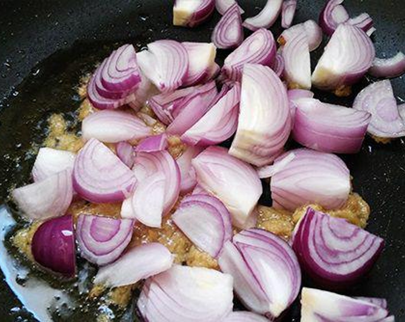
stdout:
<svg viewBox="0 0 405 322">
<path fill-rule="evenodd" d="M 281 12 L 283 0 L 267 0 L 266 5 L 254 17 L 245 19 L 243 26 L 252 31 L 259 28 L 270 28 Z"/>
</svg>

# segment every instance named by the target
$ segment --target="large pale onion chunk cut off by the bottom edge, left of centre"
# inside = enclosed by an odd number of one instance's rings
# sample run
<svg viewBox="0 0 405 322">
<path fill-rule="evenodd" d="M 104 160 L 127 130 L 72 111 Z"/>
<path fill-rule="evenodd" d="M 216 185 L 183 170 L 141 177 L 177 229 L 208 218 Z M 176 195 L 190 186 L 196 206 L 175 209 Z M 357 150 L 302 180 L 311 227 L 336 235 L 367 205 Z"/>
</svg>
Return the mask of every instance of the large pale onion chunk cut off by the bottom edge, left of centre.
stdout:
<svg viewBox="0 0 405 322">
<path fill-rule="evenodd" d="M 138 308 L 147 321 L 217 322 L 232 311 L 232 299 L 230 275 L 174 265 L 146 281 Z"/>
</svg>

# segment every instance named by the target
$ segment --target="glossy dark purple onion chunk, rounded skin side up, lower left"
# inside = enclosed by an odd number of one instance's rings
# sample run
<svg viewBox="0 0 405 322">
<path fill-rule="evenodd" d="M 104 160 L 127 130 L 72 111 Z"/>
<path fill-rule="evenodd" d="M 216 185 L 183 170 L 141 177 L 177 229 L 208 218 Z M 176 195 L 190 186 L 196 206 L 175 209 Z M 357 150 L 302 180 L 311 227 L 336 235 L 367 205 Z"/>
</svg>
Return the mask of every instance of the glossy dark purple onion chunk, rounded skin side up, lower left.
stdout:
<svg viewBox="0 0 405 322">
<path fill-rule="evenodd" d="M 52 218 L 41 224 L 32 237 L 31 252 L 41 267 L 66 278 L 74 277 L 76 254 L 72 216 Z"/>
</svg>

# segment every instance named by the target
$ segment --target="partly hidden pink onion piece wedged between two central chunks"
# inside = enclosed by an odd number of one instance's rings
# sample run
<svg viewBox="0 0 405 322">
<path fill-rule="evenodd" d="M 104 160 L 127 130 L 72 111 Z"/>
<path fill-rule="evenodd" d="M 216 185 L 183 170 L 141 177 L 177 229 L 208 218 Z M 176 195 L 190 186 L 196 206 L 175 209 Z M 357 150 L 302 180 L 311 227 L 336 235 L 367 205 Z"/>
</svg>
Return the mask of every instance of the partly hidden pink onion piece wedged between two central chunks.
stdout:
<svg viewBox="0 0 405 322">
<path fill-rule="evenodd" d="M 201 151 L 202 147 L 188 146 L 187 149 L 176 159 L 180 170 L 180 193 L 186 194 L 194 189 L 197 184 L 196 172 L 191 165 L 191 160 Z"/>
</svg>

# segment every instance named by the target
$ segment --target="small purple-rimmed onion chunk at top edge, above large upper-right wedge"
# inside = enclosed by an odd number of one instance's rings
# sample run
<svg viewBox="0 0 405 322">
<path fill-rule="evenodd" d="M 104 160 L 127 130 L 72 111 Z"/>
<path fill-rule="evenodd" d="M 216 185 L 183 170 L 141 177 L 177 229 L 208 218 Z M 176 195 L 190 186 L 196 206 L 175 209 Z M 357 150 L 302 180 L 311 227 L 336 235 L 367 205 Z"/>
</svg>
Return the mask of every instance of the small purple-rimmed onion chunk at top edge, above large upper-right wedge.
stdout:
<svg viewBox="0 0 405 322">
<path fill-rule="evenodd" d="M 319 16 L 319 25 L 328 36 L 335 32 L 340 23 L 349 20 L 349 14 L 342 5 L 343 0 L 329 0 Z"/>
</svg>

